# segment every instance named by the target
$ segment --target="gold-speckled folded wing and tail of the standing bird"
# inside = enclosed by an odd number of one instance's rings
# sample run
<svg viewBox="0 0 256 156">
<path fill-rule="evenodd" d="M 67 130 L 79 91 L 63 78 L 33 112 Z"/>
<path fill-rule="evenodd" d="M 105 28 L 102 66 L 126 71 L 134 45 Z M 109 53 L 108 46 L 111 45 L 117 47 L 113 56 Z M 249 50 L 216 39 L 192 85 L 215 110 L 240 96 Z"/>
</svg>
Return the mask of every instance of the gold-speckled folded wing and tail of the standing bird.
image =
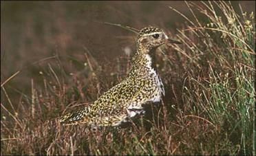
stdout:
<svg viewBox="0 0 256 156">
<path fill-rule="evenodd" d="M 62 124 L 117 125 L 126 117 L 142 113 L 142 104 L 148 102 L 145 93 L 150 89 L 143 85 L 145 83 L 124 80 L 103 93 L 91 106 L 67 113 L 60 121 Z"/>
</svg>

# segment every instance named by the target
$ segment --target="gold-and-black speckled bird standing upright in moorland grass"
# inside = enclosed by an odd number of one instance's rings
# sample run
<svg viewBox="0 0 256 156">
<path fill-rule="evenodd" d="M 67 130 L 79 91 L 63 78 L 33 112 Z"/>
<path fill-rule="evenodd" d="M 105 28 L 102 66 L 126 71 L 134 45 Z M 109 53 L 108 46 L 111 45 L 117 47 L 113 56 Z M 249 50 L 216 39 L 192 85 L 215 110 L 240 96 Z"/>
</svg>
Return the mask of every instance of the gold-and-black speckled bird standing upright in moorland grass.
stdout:
<svg viewBox="0 0 256 156">
<path fill-rule="evenodd" d="M 145 114 L 145 104 L 160 102 L 164 96 L 164 85 L 156 69 L 155 56 L 160 45 L 169 43 L 180 44 L 158 27 L 142 28 L 138 32 L 137 49 L 131 58 L 131 69 L 127 76 L 89 106 L 61 116 L 61 124 L 116 127 Z"/>
</svg>

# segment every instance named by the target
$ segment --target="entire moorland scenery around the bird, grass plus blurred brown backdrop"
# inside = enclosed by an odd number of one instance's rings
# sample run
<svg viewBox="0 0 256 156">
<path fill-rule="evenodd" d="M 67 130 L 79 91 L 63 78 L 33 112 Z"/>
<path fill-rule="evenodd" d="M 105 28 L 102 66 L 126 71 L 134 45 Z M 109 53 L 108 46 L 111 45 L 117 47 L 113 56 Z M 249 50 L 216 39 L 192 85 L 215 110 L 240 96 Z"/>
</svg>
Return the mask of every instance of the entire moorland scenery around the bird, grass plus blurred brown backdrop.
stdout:
<svg viewBox="0 0 256 156">
<path fill-rule="evenodd" d="M 119 131 L 61 126 L 129 71 L 136 35 L 103 21 L 184 43 L 157 51 L 164 104 Z M 255 1 L 1 1 L 8 154 L 255 155 Z"/>
</svg>

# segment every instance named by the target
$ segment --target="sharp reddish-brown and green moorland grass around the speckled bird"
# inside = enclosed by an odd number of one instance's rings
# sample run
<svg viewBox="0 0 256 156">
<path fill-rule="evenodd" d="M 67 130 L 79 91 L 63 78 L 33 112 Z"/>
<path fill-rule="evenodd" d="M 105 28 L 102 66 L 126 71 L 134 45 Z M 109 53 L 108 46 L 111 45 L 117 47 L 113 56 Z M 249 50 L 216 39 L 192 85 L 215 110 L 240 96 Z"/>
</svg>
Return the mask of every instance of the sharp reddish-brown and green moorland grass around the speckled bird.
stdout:
<svg viewBox="0 0 256 156">
<path fill-rule="evenodd" d="M 54 57 L 17 109 L 5 89 L 16 75 L 1 80 L 1 155 L 256 155 L 255 16 L 224 1 L 186 5 L 193 19 L 170 7 L 187 20 L 177 34 L 184 44 L 158 49 L 167 92 L 161 107 L 119 131 L 61 126 L 59 115 L 89 104 L 129 71 L 128 55 L 100 66 L 85 47 L 85 63 L 70 58 L 81 71 L 67 74 Z"/>
</svg>

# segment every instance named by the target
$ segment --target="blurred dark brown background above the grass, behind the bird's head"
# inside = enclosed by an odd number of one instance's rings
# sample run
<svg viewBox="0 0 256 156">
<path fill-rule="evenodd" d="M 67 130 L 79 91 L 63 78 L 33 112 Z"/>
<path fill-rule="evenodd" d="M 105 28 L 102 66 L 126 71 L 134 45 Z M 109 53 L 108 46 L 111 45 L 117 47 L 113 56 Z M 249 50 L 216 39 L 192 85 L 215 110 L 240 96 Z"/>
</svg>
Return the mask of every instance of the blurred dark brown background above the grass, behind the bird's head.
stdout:
<svg viewBox="0 0 256 156">
<path fill-rule="evenodd" d="M 255 12 L 255 1 L 231 3 Z M 115 69 L 125 49 L 136 49 L 136 34 L 100 22 L 158 26 L 175 38 L 186 22 L 169 6 L 191 16 L 184 1 L 1 1 L 1 83 L 22 69 L 5 87 L 13 97 L 30 93 L 31 78 L 43 85 L 49 65 L 61 65 L 67 75 L 84 71 L 85 51 L 100 66 Z"/>
</svg>

